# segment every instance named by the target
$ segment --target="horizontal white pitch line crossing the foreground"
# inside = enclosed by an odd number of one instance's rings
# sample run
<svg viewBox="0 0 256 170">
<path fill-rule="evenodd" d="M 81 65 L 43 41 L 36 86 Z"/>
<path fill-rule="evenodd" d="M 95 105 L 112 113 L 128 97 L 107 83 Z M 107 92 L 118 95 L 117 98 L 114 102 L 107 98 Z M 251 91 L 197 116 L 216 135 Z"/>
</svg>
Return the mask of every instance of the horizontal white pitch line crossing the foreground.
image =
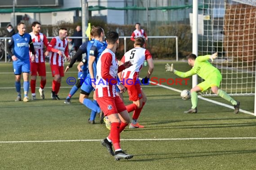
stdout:
<svg viewBox="0 0 256 170">
<path fill-rule="evenodd" d="M 236 139 L 256 139 L 256 137 L 206 137 L 206 138 L 166 138 L 166 139 L 121 139 L 126 141 L 144 141 L 144 140 L 236 140 Z M 0 143 L 40 143 L 40 142 L 92 142 L 102 141 L 102 139 L 88 140 L 25 140 L 25 141 L 0 141 Z"/>
</svg>

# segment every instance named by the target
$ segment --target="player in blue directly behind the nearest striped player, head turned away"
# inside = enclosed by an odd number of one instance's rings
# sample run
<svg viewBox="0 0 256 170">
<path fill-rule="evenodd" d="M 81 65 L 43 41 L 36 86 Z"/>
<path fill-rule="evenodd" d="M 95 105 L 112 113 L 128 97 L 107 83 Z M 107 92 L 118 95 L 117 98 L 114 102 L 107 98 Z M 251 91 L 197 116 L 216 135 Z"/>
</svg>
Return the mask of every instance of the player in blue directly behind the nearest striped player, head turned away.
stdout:
<svg viewBox="0 0 256 170">
<path fill-rule="evenodd" d="M 88 123 L 94 124 L 95 123 L 94 119 L 97 113 L 100 113 L 101 123 L 103 123 L 104 115 L 102 114 L 101 109 L 97 101 L 95 100 L 96 99 L 95 95 L 93 94 L 93 102 L 90 99 L 88 99 L 88 97 L 89 97 L 89 94 L 94 90 L 95 85 L 93 84 L 93 82 L 96 81 L 95 80 L 96 64 L 100 55 L 102 54 L 102 51 L 106 49 L 106 44 L 103 43 L 105 39 L 105 34 L 104 34 L 104 30 L 101 27 L 99 26 L 93 27 L 91 32 L 94 37 L 94 43 L 92 47 L 89 47 L 89 46 L 87 47 L 89 73 L 87 74 L 87 77 L 84 80 L 83 85 L 81 86 L 79 102 L 81 102 L 82 104 L 84 104 L 85 106 L 87 106 L 89 109 L 92 110 L 91 116 L 88 119 Z"/>
</svg>

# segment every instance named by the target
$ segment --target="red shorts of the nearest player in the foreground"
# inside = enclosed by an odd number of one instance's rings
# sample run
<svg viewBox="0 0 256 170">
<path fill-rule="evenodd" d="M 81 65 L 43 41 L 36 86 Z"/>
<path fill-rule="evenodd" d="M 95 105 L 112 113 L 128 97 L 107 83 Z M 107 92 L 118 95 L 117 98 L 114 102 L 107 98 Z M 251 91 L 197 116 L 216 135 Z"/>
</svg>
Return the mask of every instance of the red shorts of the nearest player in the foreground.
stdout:
<svg viewBox="0 0 256 170">
<path fill-rule="evenodd" d="M 97 103 L 99 104 L 105 116 L 117 114 L 126 110 L 124 102 L 119 96 L 97 98 Z"/>
</svg>

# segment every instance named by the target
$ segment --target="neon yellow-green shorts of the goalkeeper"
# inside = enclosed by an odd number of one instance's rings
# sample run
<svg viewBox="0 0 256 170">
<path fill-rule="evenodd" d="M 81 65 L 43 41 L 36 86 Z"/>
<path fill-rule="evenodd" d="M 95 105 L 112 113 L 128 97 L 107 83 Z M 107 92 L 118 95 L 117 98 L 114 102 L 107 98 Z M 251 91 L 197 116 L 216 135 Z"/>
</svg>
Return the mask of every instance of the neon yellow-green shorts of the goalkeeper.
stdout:
<svg viewBox="0 0 256 170">
<path fill-rule="evenodd" d="M 205 81 L 199 83 L 198 86 L 201 88 L 201 91 L 205 91 L 212 86 L 220 87 L 222 76 L 220 72 L 212 72 L 211 76 L 207 77 Z"/>
</svg>

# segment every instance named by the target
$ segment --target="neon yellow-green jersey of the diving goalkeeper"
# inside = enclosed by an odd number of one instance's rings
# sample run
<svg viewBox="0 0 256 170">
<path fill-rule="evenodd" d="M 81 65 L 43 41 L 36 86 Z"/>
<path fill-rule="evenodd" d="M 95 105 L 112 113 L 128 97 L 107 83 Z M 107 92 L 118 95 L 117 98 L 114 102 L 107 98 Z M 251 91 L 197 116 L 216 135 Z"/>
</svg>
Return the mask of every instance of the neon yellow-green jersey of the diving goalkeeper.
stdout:
<svg viewBox="0 0 256 170">
<path fill-rule="evenodd" d="M 212 66 L 212 64 L 208 61 L 208 59 L 210 59 L 210 56 L 211 55 L 198 56 L 195 59 L 194 67 L 190 71 L 179 72 L 176 70 L 174 74 L 183 78 L 197 74 L 201 78 L 206 80 L 207 77 L 209 77 L 213 72 L 220 73 L 220 71 L 216 67 Z"/>
</svg>

